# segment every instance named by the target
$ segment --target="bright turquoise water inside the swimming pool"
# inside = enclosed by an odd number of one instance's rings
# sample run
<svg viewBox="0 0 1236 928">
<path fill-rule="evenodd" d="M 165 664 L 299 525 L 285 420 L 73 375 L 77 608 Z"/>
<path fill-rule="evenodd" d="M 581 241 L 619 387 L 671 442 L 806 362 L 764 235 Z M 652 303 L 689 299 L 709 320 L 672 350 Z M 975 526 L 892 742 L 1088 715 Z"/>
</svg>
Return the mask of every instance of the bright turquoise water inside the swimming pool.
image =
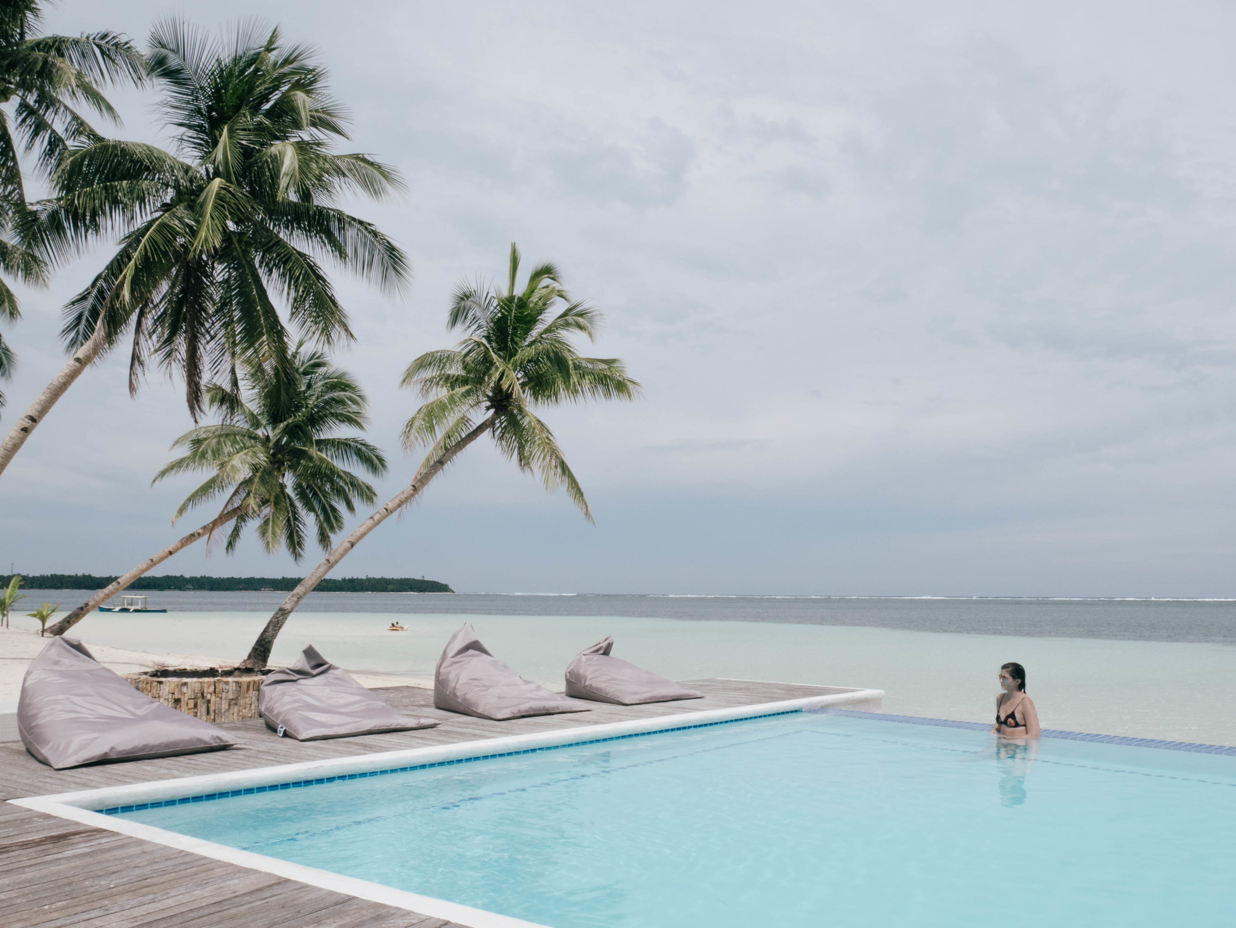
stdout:
<svg viewBox="0 0 1236 928">
<path fill-rule="evenodd" d="M 124 817 L 552 928 L 1236 921 L 1236 757 L 819 713 Z"/>
</svg>

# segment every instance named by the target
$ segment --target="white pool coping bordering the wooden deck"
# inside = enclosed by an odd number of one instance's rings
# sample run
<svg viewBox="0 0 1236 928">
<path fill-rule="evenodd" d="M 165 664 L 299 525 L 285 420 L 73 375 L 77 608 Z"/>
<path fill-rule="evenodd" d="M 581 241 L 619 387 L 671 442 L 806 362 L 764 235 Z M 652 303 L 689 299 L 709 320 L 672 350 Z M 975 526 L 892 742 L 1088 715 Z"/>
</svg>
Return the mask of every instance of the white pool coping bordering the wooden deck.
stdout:
<svg viewBox="0 0 1236 928">
<path fill-rule="evenodd" d="M 146 802 L 162 802 L 203 796 L 234 790 L 247 790 L 257 786 L 316 780 L 323 777 L 346 776 L 349 774 L 368 774 L 394 767 L 439 764 L 442 761 L 466 760 L 501 755 L 530 749 L 557 748 L 569 744 L 622 738 L 625 735 L 667 732 L 679 728 L 693 728 L 719 722 L 733 722 L 759 715 L 802 712 L 831 706 L 873 704 L 884 698 L 883 690 L 852 690 L 828 696 L 812 696 L 803 699 L 785 699 L 781 702 L 758 703 L 754 706 L 735 706 L 726 709 L 705 712 L 685 712 L 675 715 L 658 715 L 649 719 L 612 722 L 603 725 L 578 725 L 556 732 L 535 732 L 527 735 L 508 738 L 486 738 L 476 741 L 457 741 L 455 744 L 431 748 L 413 748 L 403 751 L 382 751 L 362 754 L 353 757 L 331 757 L 302 764 L 282 764 L 273 767 L 255 767 L 252 770 L 234 770 L 224 774 L 208 774 L 177 780 L 156 780 L 146 783 L 109 786 L 100 790 L 57 793 L 53 796 L 31 796 L 21 799 L 9 799 L 15 806 L 22 806 L 35 812 L 42 812 L 58 818 L 67 818 L 94 828 L 103 828 L 131 838 L 141 838 L 154 844 L 162 844 L 177 850 L 187 850 L 213 860 L 273 874 L 297 882 L 332 890 L 347 896 L 379 902 L 394 908 L 417 912 L 433 918 L 445 918 L 468 928 L 548 928 L 520 918 L 486 912 L 471 906 L 462 906 L 446 900 L 419 896 L 405 890 L 344 876 L 329 870 L 293 864 L 265 854 L 253 854 L 224 844 L 192 838 L 185 834 L 168 832 L 153 825 L 130 822 L 117 816 L 105 816 L 96 809 L 132 806 Z"/>
</svg>

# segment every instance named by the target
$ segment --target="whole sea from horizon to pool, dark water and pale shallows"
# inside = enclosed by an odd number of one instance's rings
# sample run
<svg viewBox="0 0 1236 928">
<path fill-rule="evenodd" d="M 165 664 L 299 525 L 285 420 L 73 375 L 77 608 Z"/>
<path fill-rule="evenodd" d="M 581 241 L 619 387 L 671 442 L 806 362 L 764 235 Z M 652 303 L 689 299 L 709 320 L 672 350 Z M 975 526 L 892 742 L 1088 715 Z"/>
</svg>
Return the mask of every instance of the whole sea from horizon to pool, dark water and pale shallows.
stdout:
<svg viewBox="0 0 1236 928">
<path fill-rule="evenodd" d="M 72 591 L 30 591 L 67 608 Z M 245 656 L 282 593 L 152 592 L 150 615 L 94 613 L 87 643 Z M 23 603 L 25 604 L 25 603 Z M 392 619 L 409 626 L 392 633 Z M 614 654 L 664 676 L 874 687 L 885 711 L 986 720 L 1005 661 L 1027 669 L 1047 728 L 1236 744 L 1236 602 L 808 597 L 314 593 L 281 634 L 274 662 L 308 644 L 353 671 L 431 676 L 471 622 L 498 657 L 562 687 L 571 657 L 604 635 Z M 15 625 L 37 628 L 25 617 Z"/>
</svg>

